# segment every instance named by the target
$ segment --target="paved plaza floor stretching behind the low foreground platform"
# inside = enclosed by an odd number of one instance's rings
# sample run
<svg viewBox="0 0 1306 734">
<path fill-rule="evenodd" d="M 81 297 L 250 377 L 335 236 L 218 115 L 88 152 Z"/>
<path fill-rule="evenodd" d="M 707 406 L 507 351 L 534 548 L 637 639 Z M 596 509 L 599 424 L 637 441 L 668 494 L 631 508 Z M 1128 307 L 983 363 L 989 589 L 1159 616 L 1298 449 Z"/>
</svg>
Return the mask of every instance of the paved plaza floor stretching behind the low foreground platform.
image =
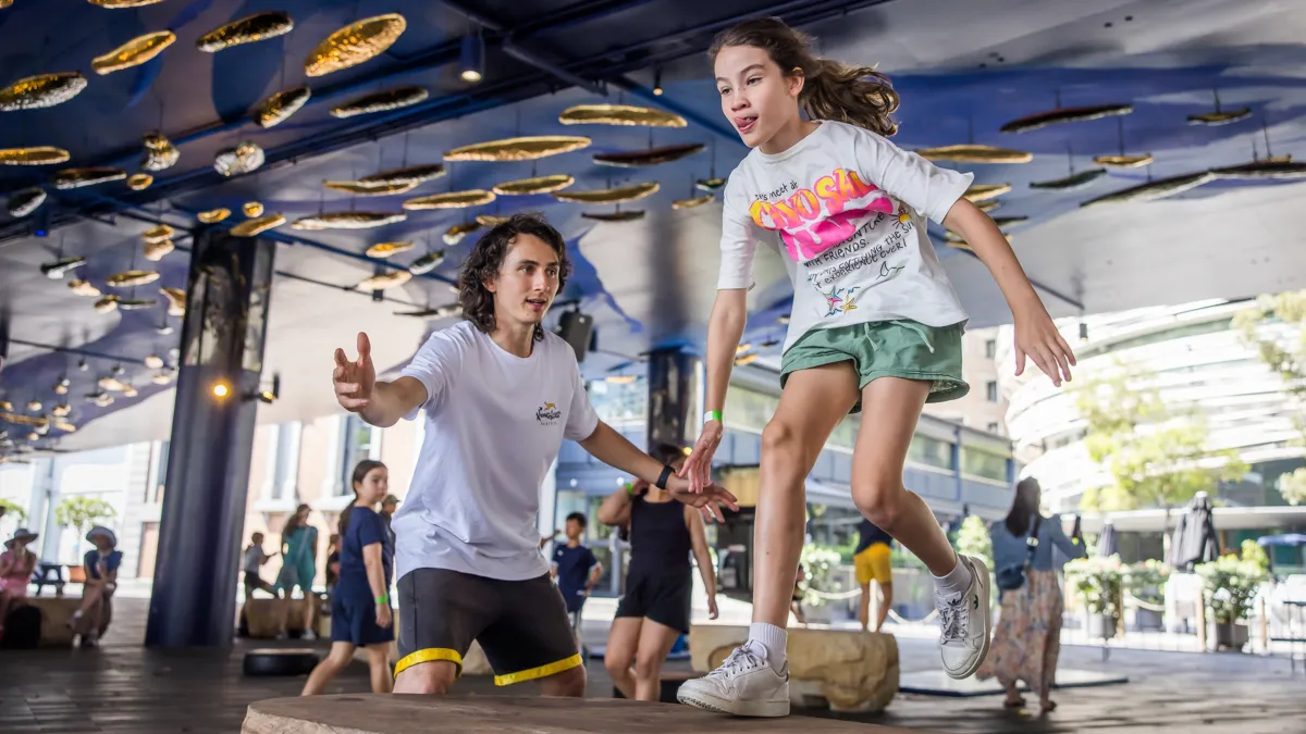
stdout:
<svg viewBox="0 0 1306 734">
<path fill-rule="evenodd" d="M 593 602 L 585 624 L 589 644 L 602 643 L 603 616 L 610 618 L 613 606 L 605 599 Z M 303 678 L 251 679 L 240 674 L 243 652 L 269 646 L 265 643 L 242 643 L 230 652 L 146 650 L 141 646 L 144 599 L 120 599 L 118 611 L 101 649 L 0 652 L 0 731 L 238 731 L 251 701 L 298 695 L 303 686 Z M 725 615 L 733 618 L 738 611 L 730 609 Z M 938 669 L 932 640 L 902 635 L 899 645 L 902 673 Z M 687 669 L 687 663 L 670 667 Z M 840 718 L 957 734 L 1306 733 L 1306 675 L 1301 666 L 1292 675 L 1282 657 L 1115 649 L 1104 662 L 1097 648 L 1067 645 L 1062 667 L 1124 674 L 1130 683 L 1060 691 L 1055 695 L 1059 708 L 1046 717 L 1008 712 L 1000 696 L 900 695 L 883 714 Z M 590 661 L 589 674 L 589 695 L 611 696 L 611 682 L 598 661 Z M 488 678 L 469 677 L 460 683 L 460 691 L 529 695 L 529 686 L 495 688 Z M 355 663 L 328 692 L 366 690 L 367 667 Z"/>
</svg>

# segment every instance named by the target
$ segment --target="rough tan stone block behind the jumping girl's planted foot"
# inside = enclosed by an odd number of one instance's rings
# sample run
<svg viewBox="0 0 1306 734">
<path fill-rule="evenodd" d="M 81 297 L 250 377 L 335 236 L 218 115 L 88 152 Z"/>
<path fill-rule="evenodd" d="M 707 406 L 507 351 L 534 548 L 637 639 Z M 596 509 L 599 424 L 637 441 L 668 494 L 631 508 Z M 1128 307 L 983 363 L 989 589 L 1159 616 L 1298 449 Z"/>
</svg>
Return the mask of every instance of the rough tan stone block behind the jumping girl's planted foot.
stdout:
<svg viewBox="0 0 1306 734">
<path fill-rule="evenodd" d="M 748 627 L 693 624 L 690 658 L 695 670 L 716 669 L 748 639 Z M 789 695 L 793 705 L 831 710 L 883 710 L 899 691 L 899 649 L 892 635 L 821 627 L 789 630 Z"/>
</svg>

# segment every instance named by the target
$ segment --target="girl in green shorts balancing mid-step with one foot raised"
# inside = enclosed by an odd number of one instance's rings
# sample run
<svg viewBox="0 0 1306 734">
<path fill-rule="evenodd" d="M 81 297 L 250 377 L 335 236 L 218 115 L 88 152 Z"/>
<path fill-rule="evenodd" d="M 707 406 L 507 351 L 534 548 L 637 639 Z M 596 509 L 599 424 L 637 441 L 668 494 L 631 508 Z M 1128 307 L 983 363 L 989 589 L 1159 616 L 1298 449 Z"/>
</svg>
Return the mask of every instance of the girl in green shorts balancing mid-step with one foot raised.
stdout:
<svg viewBox="0 0 1306 734">
<path fill-rule="evenodd" d="M 741 24 L 712 47 L 721 111 L 752 152 L 725 191 L 721 274 L 708 324 L 703 435 L 682 475 L 709 482 L 721 409 L 747 320 L 757 240 L 785 259 L 794 303 L 782 393 L 761 436 L 756 584 L 748 641 L 680 687 L 684 704 L 735 716 L 786 716 L 785 623 L 803 543 L 803 479 L 842 418 L 859 410 L 852 492 L 858 509 L 930 569 L 943 667 L 972 675 L 989 648 L 989 569 L 959 556 L 930 508 L 902 486 L 926 402 L 956 400 L 966 313 L 926 234 L 961 235 L 993 273 L 1025 357 L 1055 385 L 1075 357 L 993 221 L 963 195 L 973 179 L 938 168 L 885 137 L 897 94 L 874 69 L 818 59 L 776 18 Z M 806 115 L 803 115 L 806 112 Z"/>
</svg>

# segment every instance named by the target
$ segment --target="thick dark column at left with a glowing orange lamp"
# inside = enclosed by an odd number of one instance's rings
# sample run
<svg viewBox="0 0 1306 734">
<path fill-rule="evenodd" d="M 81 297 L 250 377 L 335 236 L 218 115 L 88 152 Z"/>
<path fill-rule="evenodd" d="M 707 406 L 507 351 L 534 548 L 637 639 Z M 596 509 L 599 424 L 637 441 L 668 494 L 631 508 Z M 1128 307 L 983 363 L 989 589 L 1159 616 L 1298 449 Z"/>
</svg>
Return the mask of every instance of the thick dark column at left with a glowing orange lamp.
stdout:
<svg viewBox="0 0 1306 734">
<path fill-rule="evenodd" d="M 270 240 L 195 238 L 150 646 L 231 644 L 274 256 Z"/>
</svg>

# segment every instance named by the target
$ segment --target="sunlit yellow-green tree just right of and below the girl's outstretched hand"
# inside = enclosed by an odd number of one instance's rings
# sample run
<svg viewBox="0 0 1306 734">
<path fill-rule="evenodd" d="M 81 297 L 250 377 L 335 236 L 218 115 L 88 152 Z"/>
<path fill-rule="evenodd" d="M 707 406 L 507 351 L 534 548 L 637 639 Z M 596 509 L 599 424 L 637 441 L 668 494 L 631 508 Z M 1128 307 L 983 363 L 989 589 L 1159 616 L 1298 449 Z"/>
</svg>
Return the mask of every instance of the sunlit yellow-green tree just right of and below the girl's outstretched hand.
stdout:
<svg viewBox="0 0 1306 734">
<path fill-rule="evenodd" d="M 1110 372 L 1088 376 L 1075 398 L 1088 424 L 1088 455 L 1113 481 L 1084 492 L 1087 511 L 1169 509 L 1247 473 L 1237 452 L 1207 449 L 1202 414 L 1168 405 L 1134 364 L 1117 362 Z"/>
</svg>

